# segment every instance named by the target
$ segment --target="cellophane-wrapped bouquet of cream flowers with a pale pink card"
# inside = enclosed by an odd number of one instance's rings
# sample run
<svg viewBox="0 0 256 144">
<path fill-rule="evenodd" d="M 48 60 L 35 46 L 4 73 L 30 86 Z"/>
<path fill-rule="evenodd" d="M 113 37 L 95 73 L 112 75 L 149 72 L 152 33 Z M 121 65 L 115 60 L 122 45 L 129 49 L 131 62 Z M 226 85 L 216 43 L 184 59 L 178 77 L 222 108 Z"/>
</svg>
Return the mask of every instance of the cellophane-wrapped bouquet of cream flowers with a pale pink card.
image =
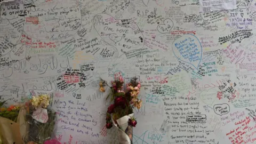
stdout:
<svg viewBox="0 0 256 144">
<path fill-rule="evenodd" d="M 43 144 L 51 141 L 55 124 L 55 113 L 47 108 L 49 106 L 49 95 L 39 95 L 27 103 L 29 113 L 26 120 L 29 123 L 27 137 L 23 139 L 26 143 Z"/>
</svg>

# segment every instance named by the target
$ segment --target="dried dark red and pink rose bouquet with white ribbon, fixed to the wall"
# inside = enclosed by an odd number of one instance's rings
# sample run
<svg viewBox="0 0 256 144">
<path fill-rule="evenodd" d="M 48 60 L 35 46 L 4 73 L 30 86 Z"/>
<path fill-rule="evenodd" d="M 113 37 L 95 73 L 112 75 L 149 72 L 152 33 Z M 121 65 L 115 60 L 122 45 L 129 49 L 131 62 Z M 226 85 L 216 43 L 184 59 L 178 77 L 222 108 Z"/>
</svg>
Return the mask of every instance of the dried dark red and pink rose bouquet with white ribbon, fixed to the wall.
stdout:
<svg viewBox="0 0 256 144">
<path fill-rule="evenodd" d="M 137 79 L 133 77 L 131 82 L 126 84 L 126 90 L 123 86 L 124 79 L 122 76 L 111 82 L 107 99 L 110 98 L 114 103 L 108 107 L 106 127 L 110 129 L 114 124 L 118 128 L 119 143 L 132 143 L 132 127 L 137 124 L 133 108 L 140 109 L 142 103 L 142 100 L 138 99 L 141 85 Z M 100 83 L 100 91 L 102 91 L 103 84 Z"/>
</svg>

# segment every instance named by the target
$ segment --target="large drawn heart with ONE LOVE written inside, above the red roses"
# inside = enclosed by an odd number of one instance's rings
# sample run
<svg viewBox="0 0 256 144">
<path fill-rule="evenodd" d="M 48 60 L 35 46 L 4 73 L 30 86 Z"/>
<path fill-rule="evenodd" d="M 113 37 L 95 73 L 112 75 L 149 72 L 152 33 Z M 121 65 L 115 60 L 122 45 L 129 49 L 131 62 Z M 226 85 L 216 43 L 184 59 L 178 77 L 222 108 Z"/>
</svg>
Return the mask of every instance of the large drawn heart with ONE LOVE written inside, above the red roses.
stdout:
<svg viewBox="0 0 256 144">
<path fill-rule="evenodd" d="M 100 13 L 94 16 L 93 27 L 105 44 L 116 49 L 114 53 L 117 57 L 144 46 L 145 41 L 141 41 L 144 36 L 133 20 L 115 19 L 109 14 Z"/>
</svg>

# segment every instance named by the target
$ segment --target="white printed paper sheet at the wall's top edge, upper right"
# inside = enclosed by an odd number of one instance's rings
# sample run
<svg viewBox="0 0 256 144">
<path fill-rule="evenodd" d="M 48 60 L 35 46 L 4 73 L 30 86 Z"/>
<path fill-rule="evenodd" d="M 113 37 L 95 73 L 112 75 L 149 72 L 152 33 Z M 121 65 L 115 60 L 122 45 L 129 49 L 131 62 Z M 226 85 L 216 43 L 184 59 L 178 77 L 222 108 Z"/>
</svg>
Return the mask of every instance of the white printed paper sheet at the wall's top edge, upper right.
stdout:
<svg viewBox="0 0 256 144">
<path fill-rule="evenodd" d="M 200 12 L 237 9 L 236 0 L 199 0 Z"/>
</svg>

